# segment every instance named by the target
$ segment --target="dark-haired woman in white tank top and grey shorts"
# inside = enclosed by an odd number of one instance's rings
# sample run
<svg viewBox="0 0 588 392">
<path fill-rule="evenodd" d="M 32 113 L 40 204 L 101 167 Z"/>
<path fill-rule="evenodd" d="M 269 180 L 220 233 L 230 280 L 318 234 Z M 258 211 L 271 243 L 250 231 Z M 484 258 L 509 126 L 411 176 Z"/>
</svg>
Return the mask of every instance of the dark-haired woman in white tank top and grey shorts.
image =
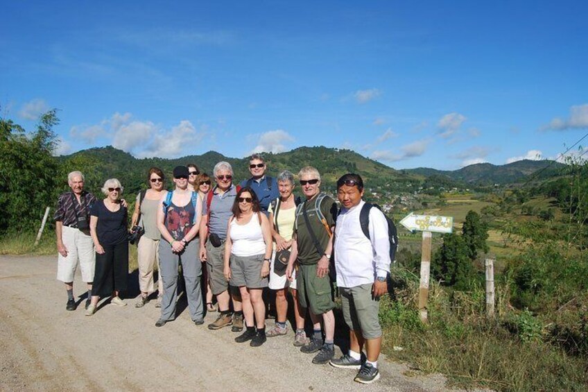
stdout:
<svg viewBox="0 0 588 392">
<path fill-rule="evenodd" d="M 266 341 L 266 305 L 261 294 L 268 287 L 271 254 L 270 223 L 260 212 L 255 192 L 245 187 L 237 192 L 225 244 L 225 278 L 239 287 L 243 300 L 246 329 L 235 338 L 237 343 L 250 340 L 250 346 L 258 347 Z"/>
</svg>

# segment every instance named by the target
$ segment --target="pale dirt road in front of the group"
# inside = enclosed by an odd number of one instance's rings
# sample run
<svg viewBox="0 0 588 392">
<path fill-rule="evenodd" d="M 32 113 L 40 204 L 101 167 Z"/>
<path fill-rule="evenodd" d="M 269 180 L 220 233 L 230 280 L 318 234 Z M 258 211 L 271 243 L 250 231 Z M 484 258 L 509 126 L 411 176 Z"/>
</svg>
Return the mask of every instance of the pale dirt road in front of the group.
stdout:
<svg viewBox="0 0 588 392">
<path fill-rule="evenodd" d="M 1 391 L 439 391 L 442 377 L 406 377 L 381 357 L 381 380 L 353 382 L 355 370 L 311 364 L 291 332 L 260 348 L 234 343 L 230 329 L 191 323 L 187 309 L 164 327 L 155 301 L 105 305 L 84 316 L 65 310 L 56 257 L 0 256 Z M 74 293 L 84 286 L 76 275 Z M 80 299 L 81 300 L 81 299 Z M 269 320 L 268 325 L 273 325 Z M 337 352 L 340 355 L 340 352 Z"/>
</svg>

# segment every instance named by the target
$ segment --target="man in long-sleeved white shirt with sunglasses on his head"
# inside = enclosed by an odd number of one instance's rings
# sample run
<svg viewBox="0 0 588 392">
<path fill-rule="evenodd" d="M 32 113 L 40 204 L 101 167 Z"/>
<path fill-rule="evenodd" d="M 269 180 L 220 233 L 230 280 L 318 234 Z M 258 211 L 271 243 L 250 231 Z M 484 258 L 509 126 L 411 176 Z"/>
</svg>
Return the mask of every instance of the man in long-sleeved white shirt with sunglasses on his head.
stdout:
<svg viewBox="0 0 588 392">
<path fill-rule="evenodd" d="M 343 316 L 349 325 L 349 353 L 331 359 L 336 368 L 357 368 L 354 381 L 370 384 L 380 377 L 378 357 L 382 330 L 378 319 L 379 297 L 388 291 L 390 240 L 388 222 L 378 208 L 370 208 L 370 237 L 364 234 L 360 214 L 365 202 L 363 180 L 348 173 L 337 180 L 341 207 L 335 228 L 334 252 L 337 287 L 341 295 Z M 367 359 L 362 358 L 365 346 Z"/>
</svg>

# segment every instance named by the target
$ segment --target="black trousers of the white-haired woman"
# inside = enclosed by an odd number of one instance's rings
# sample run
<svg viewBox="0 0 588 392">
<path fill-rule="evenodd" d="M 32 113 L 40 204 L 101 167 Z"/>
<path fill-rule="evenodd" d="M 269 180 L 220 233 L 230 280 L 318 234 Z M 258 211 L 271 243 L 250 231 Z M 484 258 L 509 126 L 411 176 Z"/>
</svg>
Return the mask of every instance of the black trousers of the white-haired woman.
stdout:
<svg viewBox="0 0 588 392">
<path fill-rule="evenodd" d="M 110 296 L 112 291 L 126 291 L 128 285 L 128 242 L 103 245 L 96 253 L 92 296 Z"/>
</svg>

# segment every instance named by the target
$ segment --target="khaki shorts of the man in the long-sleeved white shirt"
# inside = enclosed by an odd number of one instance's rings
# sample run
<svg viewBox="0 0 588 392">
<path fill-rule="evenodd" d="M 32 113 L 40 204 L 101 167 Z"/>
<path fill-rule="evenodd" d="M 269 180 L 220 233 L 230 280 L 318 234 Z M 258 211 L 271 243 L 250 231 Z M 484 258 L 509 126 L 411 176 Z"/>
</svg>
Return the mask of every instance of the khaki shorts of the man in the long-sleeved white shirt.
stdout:
<svg viewBox="0 0 588 392">
<path fill-rule="evenodd" d="M 356 287 L 339 287 L 343 318 L 352 331 L 361 331 L 364 339 L 377 339 L 382 336 L 378 319 L 380 302 L 372 296 L 372 284 Z"/>
</svg>

